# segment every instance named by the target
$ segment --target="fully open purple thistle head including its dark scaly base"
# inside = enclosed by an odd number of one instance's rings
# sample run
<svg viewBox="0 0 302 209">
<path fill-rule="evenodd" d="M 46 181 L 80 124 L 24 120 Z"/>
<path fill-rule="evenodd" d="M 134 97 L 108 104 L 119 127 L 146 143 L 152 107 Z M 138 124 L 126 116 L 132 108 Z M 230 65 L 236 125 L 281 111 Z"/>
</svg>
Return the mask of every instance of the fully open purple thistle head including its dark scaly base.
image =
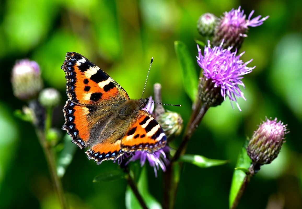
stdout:
<svg viewBox="0 0 302 209">
<path fill-rule="evenodd" d="M 252 68 L 246 66 L 252 62 L 252 59 L 248 62 L 240 59 L 244 52 L 236 55 L 236 50 L 231 52 L 232 47 L 223 49 L 222 45 L 223 42 L 220 46 L 211 48 L 208 41 L 208 46 L 204 47 L 204 55 L 197 45 L 197 63 L 203 69 L 199 83 L 199 98 L 208 106 L 217 106 L 229 97 L 231 104 L 232 101 L 236 102 L 241 111 L 237 98 L 242 97 L 246 100 L 239 88 L 239 86 L 245 87 L 241 79 L 243 75 L 252 72 L 255 66 Z"/>
</svg>

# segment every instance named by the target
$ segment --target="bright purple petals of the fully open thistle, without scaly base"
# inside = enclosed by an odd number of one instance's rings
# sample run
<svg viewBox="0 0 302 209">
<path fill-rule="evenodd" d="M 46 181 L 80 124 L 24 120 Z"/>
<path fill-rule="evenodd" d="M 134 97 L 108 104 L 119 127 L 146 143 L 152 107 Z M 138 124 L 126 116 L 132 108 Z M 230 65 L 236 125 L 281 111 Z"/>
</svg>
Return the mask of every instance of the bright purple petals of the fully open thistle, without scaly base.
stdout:
<svg viewBox="0 0 302 209">
<path fill-rule="evenodd" d="M 239 88 L 239 86 L 245 87 L 241 79 L 243 75 L 252 72 L 255 66 L 252 68 L 246 66 L 252 62 L 252 59 L 245 63 L 240 59 L 244 52 L 236 55 L 237 50 L 231 52 L 232 47 L 223 49 L 222 45 L 223 42 L 220 46 L 211 48 L 210 41 L 208 41 L 208 46 L 204 47 L 204 55 L 201 54 L 201 49 L 197 45 L 197 63 L 203 69 L 205 80 L 214 83 L 214 88 L 219 87 L 223 99 L 225 100 L 226 96 L 229 97 L 230 101 L 236 102 L 241 111 L 237 98 L 242 97 L 246 100 Z M 233 107 L 232 102 L 231 105 Z"/>
</svg>

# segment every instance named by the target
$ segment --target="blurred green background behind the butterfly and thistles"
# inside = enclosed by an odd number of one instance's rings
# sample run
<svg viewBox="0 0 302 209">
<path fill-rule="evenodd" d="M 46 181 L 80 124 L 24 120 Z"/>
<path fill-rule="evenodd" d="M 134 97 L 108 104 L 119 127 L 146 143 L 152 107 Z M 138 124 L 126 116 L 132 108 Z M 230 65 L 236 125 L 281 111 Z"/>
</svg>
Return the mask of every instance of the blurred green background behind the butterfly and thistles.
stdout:
<svg viewBox="0 0 302 209">
<path fill-rule="evenodd" d="M 64 123 L 66 80 L 62 65 L 66 52 L 78 52 L 106 71 L 132 99 L 140 98 L 150 58 L 154 57 L 145 96 L 162 84 L 167 109 L 181 113 L 186 124 L 191 101 L 186 95 L 174 41 L 187 44 L 192 59 L 198 17 L 222 15 L 241 5 L 245 14 L 270 17 L 250 28 L 243 60 L 257 67 L 245 76 L 247 101 L 242 112 L 229 101 L 211 108 L 191 139 L 187 153 L 230 163 L 209 169 L 185 164 L 176 208 L 227 208 L 237 155 L 246 137 L 265 116 L 288 124 L 290 133 L 279 157 L 263 166 L 248 185 L 239 208 L 302 208 L 302 1 L 0 1 L 0 208 L 59 208 L 47 163 L 31 124 L 13 114 L 26 103 L 13 96 L 11 69 L 17 59 L 39 63 L 45 87 L 62 95 L 53 126 Z M 198 65 L 196 64 L 196 69 Z M 199 73 L 199 72 L 198 72 Z M 65 134 L 62 131 L 62 134 Z M 172 147 L 177 147 L 177 138 Z M 76 145 L 75 145 L 76 146 Z M 97 166 L 83 150 L 62 179 L 72 208 L 125 208 L 126 181 L 93 183 L 95 176 L 118 167 L 112 161 Z M 155 178 L 148 166 L 149 189 L 162 201 L 162 173 Z"/>
</svg>

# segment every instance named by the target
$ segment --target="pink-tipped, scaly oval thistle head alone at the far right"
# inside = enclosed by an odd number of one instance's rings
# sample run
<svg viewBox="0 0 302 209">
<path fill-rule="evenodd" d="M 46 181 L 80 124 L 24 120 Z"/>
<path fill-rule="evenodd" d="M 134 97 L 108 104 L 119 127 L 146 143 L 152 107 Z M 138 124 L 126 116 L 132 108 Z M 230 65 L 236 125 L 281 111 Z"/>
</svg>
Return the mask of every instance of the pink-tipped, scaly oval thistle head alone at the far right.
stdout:
<svg viewBox="0 0 302 209">
<path fill-rule="evenodd" d="M 254 164 L 264 165 L 271 163 L 279 154 L 284 135 L 287 134 L 287 125 L 283 122 L 267 119 L 254 132 L 246 151 Z"/>
</svg>

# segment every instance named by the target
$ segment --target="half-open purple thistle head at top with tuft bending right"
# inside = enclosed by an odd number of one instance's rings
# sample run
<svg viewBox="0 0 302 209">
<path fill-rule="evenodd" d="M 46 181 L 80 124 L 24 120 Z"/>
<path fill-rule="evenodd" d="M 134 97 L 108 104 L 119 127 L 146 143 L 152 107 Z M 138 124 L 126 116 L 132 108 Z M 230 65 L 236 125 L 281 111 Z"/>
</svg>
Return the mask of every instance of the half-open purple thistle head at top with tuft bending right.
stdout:
<svg viewBox="0 0 302 209">
<path fill-rule="evenodd" d="M 263 22 L 269 17 L 261 18 L 261 15 L 251 19 L 254 14 L 254 10 L 249 14 L 248 19 L 244 14 L 244 10 L 241 10 L 239 6 L 238 9 L 232 9 L 229 12 L 225 12 L 223 17 L 220 18 L 213 37 L 213 45 L 219 46 L 222 40 L 224 40 L 223 48 L 232 46 L 232 51 L 240 49 L 243 40 L 247 37 L 246 33 L 249 27 L 257 27 L 262 25 Z"/>
</svg>

